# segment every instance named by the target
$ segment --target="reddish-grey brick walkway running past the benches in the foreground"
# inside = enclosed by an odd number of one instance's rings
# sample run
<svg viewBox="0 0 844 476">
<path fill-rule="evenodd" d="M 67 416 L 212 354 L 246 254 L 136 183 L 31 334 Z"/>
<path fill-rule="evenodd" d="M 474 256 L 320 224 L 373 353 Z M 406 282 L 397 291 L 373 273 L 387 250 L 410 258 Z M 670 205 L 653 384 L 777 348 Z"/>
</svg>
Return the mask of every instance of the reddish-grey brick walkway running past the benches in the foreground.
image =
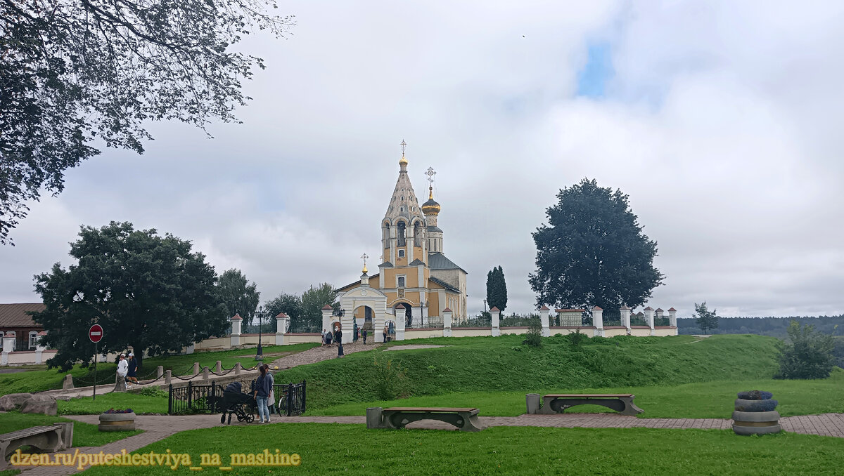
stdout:
<svg viewBox="0 0 844 476">
<path fill-rule="evenodd" d="M 85 414 L 68 416 L 73 420 L 84 423 L 97 424 L 99 415 Z M 635 416 L 624 416 L 619 414 L 522 414 L 520 416 L 482 416 L 481 423 L 486 426 L 543 426 L 555 428 L 662 428 L 662 429 L 688 429 L 697 428 L 704 430 L 728 430 L 732 420 L 722 419 L 668 419 L 668 418 L 636 418 Z M 117 453 L 125 449 L 133 452 L 143 448 L 155 441 L 165 439 L 179 431 L 197 430 L 199 428 L 211 428 L 219 426 L 219 414 L 197 414 L 189 416 L 138 416 L 135 420 L 139 430 L 143 433 L 136 436 L 129 436 L 120 441 L 109 443 L 102 447 L 80 447 L 73 448 L 73 451 L 62 452 L 73 453 Z M 366 423 L 365 416 L 294 416 L 277 417 L 273 419 L 276 423 L 340 423 L 358 424 Z M 255 425 L 232 421 L 235 425 Z M 788 416 L 780 419 L 780 425 L 784 431 L 803 433 L 805 435 L 836 436 L 844 438 L 844 414 L 811 414 L 805 416 Z M 436 430 L 454 430 L 452 425 L 437 421 L 416 421 L 408 425 L 408 428 L 425 428 Z M 76 468 L 69 467 L 41 467 L 24 470 L 26 476 L 62 476 L 65 474 L 77 473 Z"/>
</svg>

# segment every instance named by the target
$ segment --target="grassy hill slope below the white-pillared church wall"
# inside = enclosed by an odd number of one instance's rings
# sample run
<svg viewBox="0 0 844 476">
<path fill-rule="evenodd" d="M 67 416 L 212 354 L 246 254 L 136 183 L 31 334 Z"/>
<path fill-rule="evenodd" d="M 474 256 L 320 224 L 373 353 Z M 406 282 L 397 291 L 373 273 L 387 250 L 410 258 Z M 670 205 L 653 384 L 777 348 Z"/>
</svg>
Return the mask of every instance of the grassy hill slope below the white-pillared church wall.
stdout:
<svg viewBox="0 0 844 476">
<path fill-rule="evenodd" d="M 379 399 L 376 359 L 403 368 L 405 396 L 759 380 L 776 372 L 776 339 L 764 336 L 619 336 L 587 339 L 579 346 L 554 336 L 539 348 L 522 345 L 522 339 L 505 335 L 398 342 L 446 347 L 355 353 L 279 372 L 276 382 L 307 380 L 308 406 L 320 409 Z"/>
</svg>

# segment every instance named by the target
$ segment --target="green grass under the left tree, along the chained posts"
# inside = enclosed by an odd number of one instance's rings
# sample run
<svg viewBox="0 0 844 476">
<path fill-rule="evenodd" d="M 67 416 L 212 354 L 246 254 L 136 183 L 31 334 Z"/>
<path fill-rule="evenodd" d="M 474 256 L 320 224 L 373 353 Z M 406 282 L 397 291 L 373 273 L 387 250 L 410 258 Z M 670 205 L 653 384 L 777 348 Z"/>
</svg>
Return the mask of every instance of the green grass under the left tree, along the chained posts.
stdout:
<svg viewBox="0 0 844 476">
<path fill-rule="evenodd" d="M 264 355 L 266 356 L 265 361 L 269 363 L 279 358 L 279 356 L 273 356 L 275 354 L 294 354 L 311 349 L 312 347 L 317 347 L 318 345 L 317 343 L 269 345 L 263 348 Z M 190 374 L 193 372 L 193 362 L 199 362 L 200 368 L 208 366 L 208 368 L 214 371 L 217 361 L 221 361 L 221 365 L 226 369 L 235 366 L 236 362 L 241 362 L 241 366 L 245 368 L 251 368 L 256 364 L 255 349 L 196 352 L 187 356 L 151 357 L 143 361 L 143 369 L 138 372 L 138 377 L 147 377 L 149 374 L 152 374 L 154 377 L 158 366 L 164 366 L 165 370 L 172 371 L 174 375 Z M 114 363 L 100 362 L 97 364 L 97 384 L 111 384 L 113 386 L 116 368 L 117 366 Z M 76 387 L 89 386 L 94 382 L 93 366 L 90 368 L 74 366 L 68 372 L 59 372 L 57 369 L 46 370 L 46 366 L 41 366 L 41 370 L 0 374 L 0 395 L 7 393 L 42 392 L 44 390 L 62 388 L 62 379 L 68 373 L 73 374 Z"/>
</svg>

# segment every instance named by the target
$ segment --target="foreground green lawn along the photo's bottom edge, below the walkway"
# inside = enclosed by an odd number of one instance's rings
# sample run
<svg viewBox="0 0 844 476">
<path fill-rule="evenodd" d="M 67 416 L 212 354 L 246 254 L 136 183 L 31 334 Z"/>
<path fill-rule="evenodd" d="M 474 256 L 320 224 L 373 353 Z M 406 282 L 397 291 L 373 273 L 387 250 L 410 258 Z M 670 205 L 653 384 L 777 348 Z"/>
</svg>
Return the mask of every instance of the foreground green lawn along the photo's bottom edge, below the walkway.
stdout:
<svg viewBox="0 0 844 476">
<path fill-rule="evenodd" d="M 297 453 L 299 468 L 237 474 L 838 474 L 840 438 L 732 431 L 494 427 L 479 433 L 278 424 L 184 431 L 136 453 Z M 217 473 L 214 467 L 205 468 Z M 91 468 L 89 474 L 173 474 L 169 467 Z M 189 468 L 176 469 L 191 473 Z"/>
</svg>

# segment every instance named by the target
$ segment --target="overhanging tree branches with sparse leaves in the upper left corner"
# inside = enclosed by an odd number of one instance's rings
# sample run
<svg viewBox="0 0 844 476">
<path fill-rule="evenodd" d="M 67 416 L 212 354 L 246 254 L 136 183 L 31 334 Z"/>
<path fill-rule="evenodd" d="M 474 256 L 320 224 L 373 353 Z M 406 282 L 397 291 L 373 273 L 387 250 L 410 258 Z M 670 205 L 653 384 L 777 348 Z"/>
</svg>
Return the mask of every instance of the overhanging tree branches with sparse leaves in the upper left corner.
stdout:
<svg viewBox="0 0 844 476">
<path fill-rule="evenodd" d="M 107 147 L 143 152 L 150 120 L 234 121 L 261 58 L 244 35 L 283 36 L 273 0 L 0 0 L 0 243 L 41 189 Z"/>
</svg>

